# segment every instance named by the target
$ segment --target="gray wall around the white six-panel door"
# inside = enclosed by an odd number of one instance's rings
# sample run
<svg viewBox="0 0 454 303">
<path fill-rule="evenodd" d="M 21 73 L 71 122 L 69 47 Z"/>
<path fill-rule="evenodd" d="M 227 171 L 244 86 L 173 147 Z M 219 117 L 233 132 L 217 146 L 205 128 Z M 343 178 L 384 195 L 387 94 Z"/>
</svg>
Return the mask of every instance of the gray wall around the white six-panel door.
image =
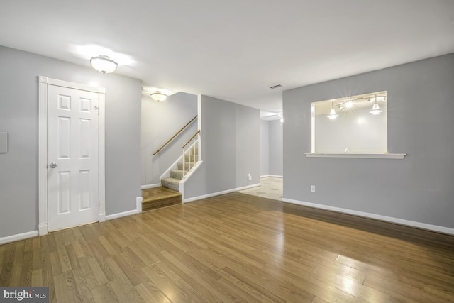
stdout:
<svg viewBox="0 0 454 303">
<path fill-rule="evenodd" d="M 0 67 L 0 237 L 38 230 L 38 75 L 106 88 L 106 214 L 135 209 L 140 81 L 2 46 Z"/>
</svg>

